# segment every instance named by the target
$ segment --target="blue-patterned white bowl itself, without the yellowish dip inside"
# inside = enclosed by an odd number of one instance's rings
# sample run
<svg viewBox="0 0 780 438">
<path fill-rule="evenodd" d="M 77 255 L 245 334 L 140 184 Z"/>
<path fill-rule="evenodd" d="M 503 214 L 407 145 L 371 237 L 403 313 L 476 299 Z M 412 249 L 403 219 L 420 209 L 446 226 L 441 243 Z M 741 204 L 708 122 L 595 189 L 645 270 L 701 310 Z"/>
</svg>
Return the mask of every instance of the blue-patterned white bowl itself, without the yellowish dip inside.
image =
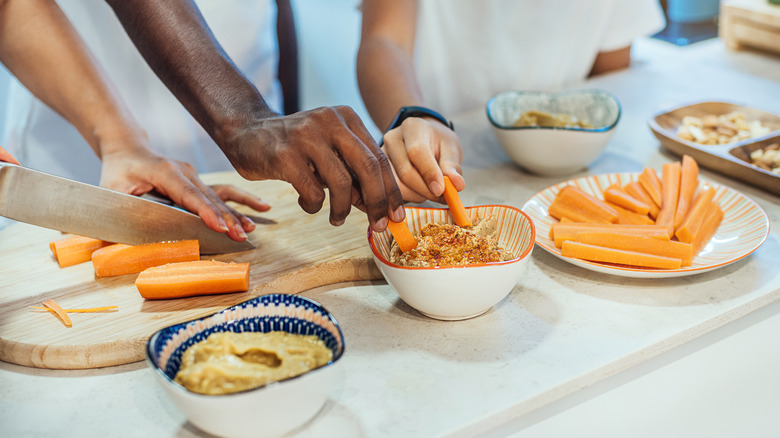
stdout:
<svg viewBox="0 0 780 438">
<path fill-rule="evenodd" d="M 198 394 L 173 380 L 184 351 L 210 334 L 270 331 L 316 335 L 333 359 L 299 376 L 232 394 Z M 173 404 L 200 429 L 230 437 L 280 436 L 313 418 L 338 382 L 335 365 L 343 354 L 344 336 L 333 315 L 313 300 L 286 294 L 263 295 L 166 327 L 146 345 L 147 361 Z"/>
</svg>

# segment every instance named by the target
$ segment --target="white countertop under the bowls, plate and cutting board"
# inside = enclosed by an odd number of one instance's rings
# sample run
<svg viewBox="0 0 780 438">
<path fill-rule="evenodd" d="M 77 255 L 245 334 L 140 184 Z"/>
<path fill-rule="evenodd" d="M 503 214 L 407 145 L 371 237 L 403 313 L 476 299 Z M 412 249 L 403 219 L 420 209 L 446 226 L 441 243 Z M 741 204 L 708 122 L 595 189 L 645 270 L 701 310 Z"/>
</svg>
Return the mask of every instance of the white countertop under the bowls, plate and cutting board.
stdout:
<svg viewBox="0 0 780 438">
<path fill-rule="evenodd" d="M 664 107 L 727 100 L 780 114 L 778 58 L 728 52 L 718 40 L 685 48 L 642 40 L 634 56 L 630 70 L 583 84 L 623 106 L 587 174 L 678 159 L 647 128 Z M 483 111 L 455 123 L 466 149 L 464 203 L 521 206 L 560 181 L 517 170 Z M 303 293 L 337 316 L 347 349 L 342 385 L 296 436 L 776 436 L 780 198 L 703 174 L 755 200 L 773 226 L 753 256 L 711 273 L 610 277 L 536 248 L 507 299 L 460 322 L 422 317 L 384 282 Z M 143 362 L 85 371 L 0 363 L 0 388 L 3 436 L 203 436 Z"/>
</svg>

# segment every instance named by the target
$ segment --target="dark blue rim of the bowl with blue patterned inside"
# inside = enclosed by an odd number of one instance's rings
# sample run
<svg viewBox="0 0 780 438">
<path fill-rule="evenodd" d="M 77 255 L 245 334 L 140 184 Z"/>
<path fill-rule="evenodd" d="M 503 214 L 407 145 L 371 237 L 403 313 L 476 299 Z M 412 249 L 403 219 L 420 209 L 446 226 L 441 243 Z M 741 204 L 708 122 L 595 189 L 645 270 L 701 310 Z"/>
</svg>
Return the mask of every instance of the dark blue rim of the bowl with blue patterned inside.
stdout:
<svg viewBox="0 0 780 438">
<path fill-rule="evenodd" d="M 163 371 L 163 369 L 160 368 L 154 362 L 154 360 L 152 360 L 152 341 L 157 336 L 159 336 L 160 333 L 163 330 L 167 330 L 167 329 L 169 329 L 171 327 L 175 327 L 175 326 L 179 326 L 179 325 L 186 325 L 186 324 L 189 324 L 189 323 L 194 322 L 194 321 L 204 320 L 204 319 L 210 318 L 210 317 L 212 317 L 214 315 L 217 315 L 217 314 L 220 314 L 220 313 L 229 312 L 229 311 L 235 309 L 236 307 L 242 306 L 242 305 L 244 305 L 244 304 L 246 304 L 246 303 L 248 303 L 250 301 L 259 300 L 259 299 L 261 299 L 263 297 L 270 297 L 270 296 L 274 296 L 274 295 L 292 295 L 292 296 L 295 296 L 295 297 L 297 297 L 297 298 L 299 298 L 299 299 L 301 299 L 303 301 L 308 301 L 311 304 L 319 307 L 319 309 L 321 309 L 325 314 L 327 314 L 327 316 L 333 321 L 333 325 L 336 327 L 336 330 L 338 330 L 339 336 L 341 337 L 341 351 L 339 352 L 339 354 L 337 356 L 331 358 L 331 360 L 328 361 L 328 363 L 326 363 L 324 365 L 321 365 L 321 366 L 319 366 L 317 368 L 313 368 L 313 369 L 311 369 L 309 371 L 306 371 L 305 373 L 298 374 L 297 376 L 288 377 L 288 378 L 283 379 L 283 380 L 274 380 L 274 381 L 268 382 L 268 383 L 266 383 L 265 385 L 262 385 L 262 386 L 257 386 L 257 387 L 254 387 L 254 388 L 244 389 L 242 391 L 230 392 L 230 393 L 227 393 L 227 394 L 201 394 L 199 392 L 190 391 L 189 389 L 187 389 L 183 385 L 177 383 L 170 376 L 168 376 L 168 374 L 166 374 L 165 371 Z M 255 333 L 255 332 L 253 332 L 253 333 Z M 226 307 L 226 308 L 224 308 L 222 310 L 219 310 L 217 312 L 208 314 L 206 316 L 202 316 L 200 318 L 193 318 L 193 319 L 190 319 L 190 320 L 187 320 L 187 321 L 178 322 L 176 324 L 171 324 L 171 325 L 165 326 L 165 327 L 163 327 L 163 328 L 161 328 L 159 330 L 156 330 L 154 333 L 152 333 L 151 336 L 149 336 L 149 339 L 146 341 L 146 349 L 145 349 L 145 351 L 146 351 L 146 362 L 147 362 L 147 364 L 152 369 L 154 369 L 155 373 L 159 377 L 162 377 L 163 380 L 165 380 L 167 383 L 170 384 L 169 385 L 170 388 L 173 388 L 175 391 L 181 391 L 181 392 L 183 392 L 183 393 L 185 393 L 187 395 L 190 395 L 190 396 L 214 399 L 215 397 L 227 398 L 227 397 L 232 397 L 232 396 L 245 395 L 248 392 L 258 391 L 258 390 L 263 390 L 263 389 L 270 388 L 270 387 L 276 387 L 276 386 L 279 386 L 279 385 L 283 385 L 286 382 L 297 380 L 298 378 L 302 378 L 303 376 L 308 376 L 308 375 L 310 375 L 313 372 L 323 371 L 326 368 L 335 365 L 336 362 L 338 362 L 338 360 L 341 359 L 344 356 L 344 352 L 346 351 L 346 348 L 347 348 L 347 346 L 346 346 L 346 342 L 344 341 L 344 332 L 341 330 L 341 325 L 336 320 L 336 317 L 328 309 L 326 309 L 325 306 L 320 304 L 318 301 L 315 301 L 315 300 L 313 300 L 311 298 L 304 297 L 304 296 L 298 295 L 298 294 L 272 293 L 272 294 L 259 295 L 259 296 L 250 298 L 250 299 L 248 299 L 246 301 L 243 301 L 241 303 L 232 305 L 230 307 Z"/>
</svg>

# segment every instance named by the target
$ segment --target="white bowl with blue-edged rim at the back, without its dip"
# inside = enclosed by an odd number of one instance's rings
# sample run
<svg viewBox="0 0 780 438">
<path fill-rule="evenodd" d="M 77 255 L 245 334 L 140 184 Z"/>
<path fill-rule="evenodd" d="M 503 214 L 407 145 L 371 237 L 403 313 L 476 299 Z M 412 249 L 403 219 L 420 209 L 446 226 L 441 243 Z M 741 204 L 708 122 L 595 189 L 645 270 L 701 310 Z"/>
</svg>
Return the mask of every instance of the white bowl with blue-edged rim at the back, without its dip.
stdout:
<svg viewBox="0 0 780 438">
<path fill-rule="evenodd" d="M 514 126 L 530 110 L 575 116 L 593 128 Z M 539 175 L 558 176 L 586 168 L 601 154 L 620 120 L 620 103 L 601 90 L 506 91 L 488 100 L 487 117 L 512 161 Z"/>
</svg>

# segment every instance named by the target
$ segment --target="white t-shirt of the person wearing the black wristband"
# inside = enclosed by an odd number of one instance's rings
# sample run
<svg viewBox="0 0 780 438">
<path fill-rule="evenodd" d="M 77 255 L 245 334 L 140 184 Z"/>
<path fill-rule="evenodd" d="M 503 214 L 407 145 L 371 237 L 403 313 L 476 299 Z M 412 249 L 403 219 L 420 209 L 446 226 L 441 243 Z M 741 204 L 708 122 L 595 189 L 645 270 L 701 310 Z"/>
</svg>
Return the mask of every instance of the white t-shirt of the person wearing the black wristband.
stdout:
<svg viewBox="0 0 780 438">
<path fill-rule="evenodd" d="M 664 26 L 658 0 L 418 0 L 415 65 L 445 115 L 508 90 L 557 91 L 596 55 Z"/>
</svg>

